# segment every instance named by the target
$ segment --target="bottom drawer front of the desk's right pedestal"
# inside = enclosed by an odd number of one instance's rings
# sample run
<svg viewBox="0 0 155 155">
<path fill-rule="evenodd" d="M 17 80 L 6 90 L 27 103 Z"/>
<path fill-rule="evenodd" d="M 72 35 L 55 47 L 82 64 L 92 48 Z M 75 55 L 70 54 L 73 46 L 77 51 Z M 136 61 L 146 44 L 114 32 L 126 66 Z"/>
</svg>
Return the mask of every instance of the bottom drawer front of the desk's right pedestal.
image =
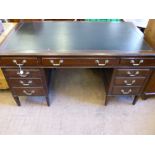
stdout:
<svg viewBox="0 0 155 155">
<path fill-rule="evenodd" d="M 113 87 L 112 95 L 138 95 L 141 87 Z"/>
</svg>

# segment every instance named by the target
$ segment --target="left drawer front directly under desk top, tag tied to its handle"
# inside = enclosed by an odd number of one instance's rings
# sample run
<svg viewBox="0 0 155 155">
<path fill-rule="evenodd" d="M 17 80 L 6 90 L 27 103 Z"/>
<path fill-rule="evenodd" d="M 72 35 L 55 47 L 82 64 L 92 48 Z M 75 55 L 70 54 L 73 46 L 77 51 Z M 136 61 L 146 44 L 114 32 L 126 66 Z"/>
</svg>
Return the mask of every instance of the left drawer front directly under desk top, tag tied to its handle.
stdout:
<svg viewBox="0 0 155 155">
<path fill-rule="evenodd" d="M 3 66 L 36 66 L 38 59 L 36 57 L 2 57 L 1 64 Z"/>
</svg>

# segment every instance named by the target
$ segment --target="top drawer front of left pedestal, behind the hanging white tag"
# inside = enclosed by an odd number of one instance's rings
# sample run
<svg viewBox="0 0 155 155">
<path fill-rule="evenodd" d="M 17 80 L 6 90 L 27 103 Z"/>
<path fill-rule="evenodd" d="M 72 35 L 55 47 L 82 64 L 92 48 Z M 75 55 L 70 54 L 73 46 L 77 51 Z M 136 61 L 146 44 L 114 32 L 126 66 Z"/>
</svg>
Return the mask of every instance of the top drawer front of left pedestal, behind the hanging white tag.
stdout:
<svg viewBox="0 0 155 155">
<path fill-rule="evenodd" d="M 41 77 L 39 69 L 23 69 L 24 73 L 19 74 L 19 69 L 5 69 L 5 74 L 8 78 L 38 78 Z"/>
</svg>

